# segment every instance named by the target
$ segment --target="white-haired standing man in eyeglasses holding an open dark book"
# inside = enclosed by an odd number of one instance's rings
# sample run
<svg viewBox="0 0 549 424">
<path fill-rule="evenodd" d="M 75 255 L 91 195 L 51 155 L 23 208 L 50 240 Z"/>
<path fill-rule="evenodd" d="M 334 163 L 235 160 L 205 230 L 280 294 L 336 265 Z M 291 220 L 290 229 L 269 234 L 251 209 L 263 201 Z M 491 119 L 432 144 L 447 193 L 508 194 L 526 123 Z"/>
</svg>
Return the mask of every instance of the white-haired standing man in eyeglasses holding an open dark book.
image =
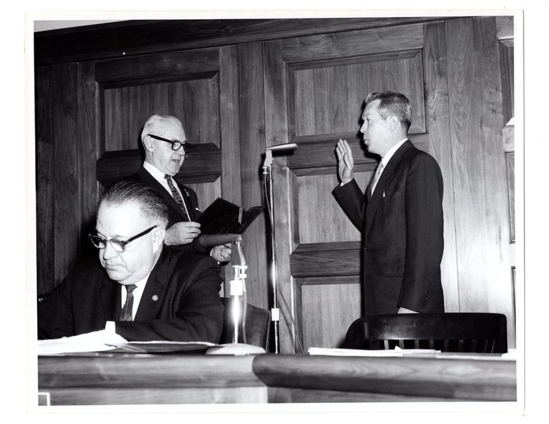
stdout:
<svg viewBox="0 0 549 424">
<path fill-rule="evenodd" d="M 181 121 L 169 115 L 152 115 L 141 131 L 141 143 L 145 161 L 137 173 L 129 178 L 145 182 L 158 190 L 168 207 L 168 224 L 165 244 L 186 246 L 200 235 L 200 224 L 195 222 L 200 215 L 198 198 L 190 187 L 178 185 L 173 178 L 183 165 L 191 144 Z M 209 252 L 216 261 L 231 259 L 229 246 L 215 246 Z"/>
</svg>

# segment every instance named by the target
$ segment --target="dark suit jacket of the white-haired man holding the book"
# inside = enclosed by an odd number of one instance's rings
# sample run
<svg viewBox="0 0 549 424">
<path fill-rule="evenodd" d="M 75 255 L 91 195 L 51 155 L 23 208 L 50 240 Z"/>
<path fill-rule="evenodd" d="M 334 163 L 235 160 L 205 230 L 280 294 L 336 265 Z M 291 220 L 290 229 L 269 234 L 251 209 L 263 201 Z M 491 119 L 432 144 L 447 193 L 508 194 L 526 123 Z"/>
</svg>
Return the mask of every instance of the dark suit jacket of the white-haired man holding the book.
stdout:
<svg viewBox="0 0 549 424">
<path fill-rule="evenodd" d="M 167 228 L 170 228 L 170 226 L 174 225 L 176 222 L 186 222 L 187 215 L 185 215 L 185 212 L 181 210 L 177 202 L 172 198 L 170 193 L 166 191 L 166 189 L 160 184 L 160 182 L 156 181 L 154 177 L 149 174 L 147 169 L 141 165 L 141 167 L 137 170 L 135 174 L 132 174 L 128 177 L 128 180 L 132 181 L 141 181 L 145 182 L 146 185 L 149 185 L 150 187 L 153 187 L 160 193 L 160 196 L 165 200 L 167 203 L 167 209 L 168 209 L 168 224 Z M 175 180 L 175 178 L 174 178 Z M 187 187 L 186 185 L 179 184 L 176 182 L 176 184 L 179 186 L 179 189 L 181 193 L 183 194 L 183 201 L 185 202 L 185 205 L 187 206 L 187 210 L 189 211 L 189 215 L 191 218 L 191 221 L 196 220 L 198 215 L 200 215 L 200 209 L 198 209 L 198 196 L 196 196 L 196 193 L 193 189 L 190 187 Z"/>
</svg>

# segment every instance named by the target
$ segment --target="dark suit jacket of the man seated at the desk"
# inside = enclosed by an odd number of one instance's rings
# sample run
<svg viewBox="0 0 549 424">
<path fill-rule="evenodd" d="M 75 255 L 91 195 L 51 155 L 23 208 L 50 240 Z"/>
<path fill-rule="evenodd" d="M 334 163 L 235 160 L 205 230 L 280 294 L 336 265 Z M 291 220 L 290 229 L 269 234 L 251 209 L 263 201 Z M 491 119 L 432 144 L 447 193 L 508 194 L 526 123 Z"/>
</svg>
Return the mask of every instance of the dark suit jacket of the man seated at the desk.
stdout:
<svg viewBox="0 0 549 424">
<path fill-rule="evenodd" d="M 38 338 L 88 333 L 115 321 L 116 332 L 126 340 L 219 341 L 219 266 L 210 257 L 163 246 L 133 322 L 117 321 L 121 290 L 98 259 L 79 263 L 38 303 Z"/>
</svg>

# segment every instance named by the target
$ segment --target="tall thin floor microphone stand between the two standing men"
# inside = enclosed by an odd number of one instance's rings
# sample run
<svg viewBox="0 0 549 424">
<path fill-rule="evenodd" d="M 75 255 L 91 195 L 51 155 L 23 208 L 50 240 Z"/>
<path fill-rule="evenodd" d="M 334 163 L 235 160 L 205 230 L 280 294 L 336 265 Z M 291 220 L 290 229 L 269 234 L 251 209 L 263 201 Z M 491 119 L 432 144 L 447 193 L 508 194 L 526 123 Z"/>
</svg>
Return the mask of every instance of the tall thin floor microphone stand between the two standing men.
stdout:
<svg viewBox="0 0 549 424">
<path fill-rule="evenodd" d="M 269 213 L 269 222 L 270 222 L 270 288 L 271 288 L 271 309 L 270 316 L 273 326 L 274 333 L 274 353 L 280 353 L 280 340 L 279 340 L 279 320 L 280 320 L 280 309 L 278 306 L 278 296 L 277 296 L 277 261 L 274 248 L 276 244 L 274 243 L 274 202 L 272 196 L 272 151 L 265 151 L 265 161 L 263 163 L 263 175 L 266 178 L 268 184 L 268 193 L 266 197 L 268 200 L 268 213 Z"/>
</svg>

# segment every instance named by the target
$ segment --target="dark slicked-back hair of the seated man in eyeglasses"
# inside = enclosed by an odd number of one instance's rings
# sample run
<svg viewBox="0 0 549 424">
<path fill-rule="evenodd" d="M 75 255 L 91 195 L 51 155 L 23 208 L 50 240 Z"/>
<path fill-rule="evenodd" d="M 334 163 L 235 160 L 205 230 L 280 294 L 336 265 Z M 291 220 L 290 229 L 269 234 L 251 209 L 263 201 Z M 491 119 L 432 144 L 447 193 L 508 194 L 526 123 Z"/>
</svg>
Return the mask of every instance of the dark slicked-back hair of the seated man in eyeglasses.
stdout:
<svg viewBox="0 0 549 424">
<path fill-rule="evenodd" d="M 138 181 L 120 181 L 101 196 L 100 204 L 136 204 L 136 213 L 151 224 L 167 226 L 167 204 L 156 189 Z"/>
</svg>

